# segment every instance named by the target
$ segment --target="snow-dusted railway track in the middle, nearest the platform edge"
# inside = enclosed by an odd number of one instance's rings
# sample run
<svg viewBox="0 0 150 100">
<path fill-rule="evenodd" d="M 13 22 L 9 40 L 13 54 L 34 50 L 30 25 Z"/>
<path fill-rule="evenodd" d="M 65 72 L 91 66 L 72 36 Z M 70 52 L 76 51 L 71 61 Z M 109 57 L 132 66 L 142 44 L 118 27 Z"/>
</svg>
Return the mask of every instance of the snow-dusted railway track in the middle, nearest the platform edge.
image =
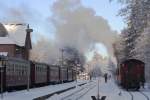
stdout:
<svg viewBox="0 0 150 100">
<path fill-rule="evenodd" d="M 73 93 L 63 97 L 61 100 L 80 100 L 84 95 L 86 95 L 90 90 L 92 90 L 96 84 L 87 84 L 81 87 L 81 89 L 74 91 Z"/>
</svg>

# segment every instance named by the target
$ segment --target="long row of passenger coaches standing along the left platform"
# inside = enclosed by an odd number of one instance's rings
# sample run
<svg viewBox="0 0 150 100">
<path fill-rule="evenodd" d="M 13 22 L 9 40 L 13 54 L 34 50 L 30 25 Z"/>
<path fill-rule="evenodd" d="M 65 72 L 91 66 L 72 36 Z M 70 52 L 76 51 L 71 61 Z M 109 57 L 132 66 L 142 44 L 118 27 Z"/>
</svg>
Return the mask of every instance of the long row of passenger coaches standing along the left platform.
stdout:
<svg viewBox="0 0 150 100">
<path fill-rule="evenodd" d="M 69 67 L 11 57 L 0 59 L 0 88 L 3 91 L 71 82 L 75 79 L 76 72 Z"/>
</svg>

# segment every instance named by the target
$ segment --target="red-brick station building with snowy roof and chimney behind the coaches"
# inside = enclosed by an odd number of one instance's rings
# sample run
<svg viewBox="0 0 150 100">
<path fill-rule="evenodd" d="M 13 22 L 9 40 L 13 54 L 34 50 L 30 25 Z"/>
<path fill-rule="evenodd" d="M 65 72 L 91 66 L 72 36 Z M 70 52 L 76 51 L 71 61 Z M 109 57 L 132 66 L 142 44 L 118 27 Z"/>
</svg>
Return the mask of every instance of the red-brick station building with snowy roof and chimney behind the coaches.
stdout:
<svg viewBox="0 0 150 100">
<path fill-rule="evenodd" d="M 31 32 L 29 25 L 0 23 L 0 55 L 29 60 Z"/>
</svg>

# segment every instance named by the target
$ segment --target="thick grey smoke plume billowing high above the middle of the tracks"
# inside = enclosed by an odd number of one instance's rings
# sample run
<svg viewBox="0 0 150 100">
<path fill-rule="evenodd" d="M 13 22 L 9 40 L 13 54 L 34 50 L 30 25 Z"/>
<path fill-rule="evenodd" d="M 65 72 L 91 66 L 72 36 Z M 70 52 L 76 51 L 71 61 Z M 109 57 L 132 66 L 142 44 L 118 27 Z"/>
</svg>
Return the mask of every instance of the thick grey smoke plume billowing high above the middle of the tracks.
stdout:
<svg viewBox="0 0 150 100">
<path fill-rule="evenodd" d="M 56 40 L 60 46 L 71 46 L 82 53 L 95 43 L 103 43 L 113 55 L 112 43 L 117 33 L 111 30 L 107 20 L 91 8 L 81 4 L 81 0 L 56 0 L 49 18 L 56 29 Z"/>
</svg>

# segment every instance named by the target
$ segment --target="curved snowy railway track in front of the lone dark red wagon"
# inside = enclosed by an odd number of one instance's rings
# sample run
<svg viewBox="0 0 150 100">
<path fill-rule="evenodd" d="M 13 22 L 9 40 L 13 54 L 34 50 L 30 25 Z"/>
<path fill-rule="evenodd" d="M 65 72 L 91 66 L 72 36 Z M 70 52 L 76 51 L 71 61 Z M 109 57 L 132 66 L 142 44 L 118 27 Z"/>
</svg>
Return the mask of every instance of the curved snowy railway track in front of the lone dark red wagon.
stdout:
<svg viewBox="0 0 150 100">
<path fill-rule="evenodd" d="M 128 93 L 131 96 L 131 100 L 150 100 L 150 98 L 145 93 L 143 93 L 141 91 L 138 91 L 138 92 L 128 92 Z M 138 98 L 138 95 L 142 95 L 145 99 L 141 98 L 141 96 Z"/>
</svg>

